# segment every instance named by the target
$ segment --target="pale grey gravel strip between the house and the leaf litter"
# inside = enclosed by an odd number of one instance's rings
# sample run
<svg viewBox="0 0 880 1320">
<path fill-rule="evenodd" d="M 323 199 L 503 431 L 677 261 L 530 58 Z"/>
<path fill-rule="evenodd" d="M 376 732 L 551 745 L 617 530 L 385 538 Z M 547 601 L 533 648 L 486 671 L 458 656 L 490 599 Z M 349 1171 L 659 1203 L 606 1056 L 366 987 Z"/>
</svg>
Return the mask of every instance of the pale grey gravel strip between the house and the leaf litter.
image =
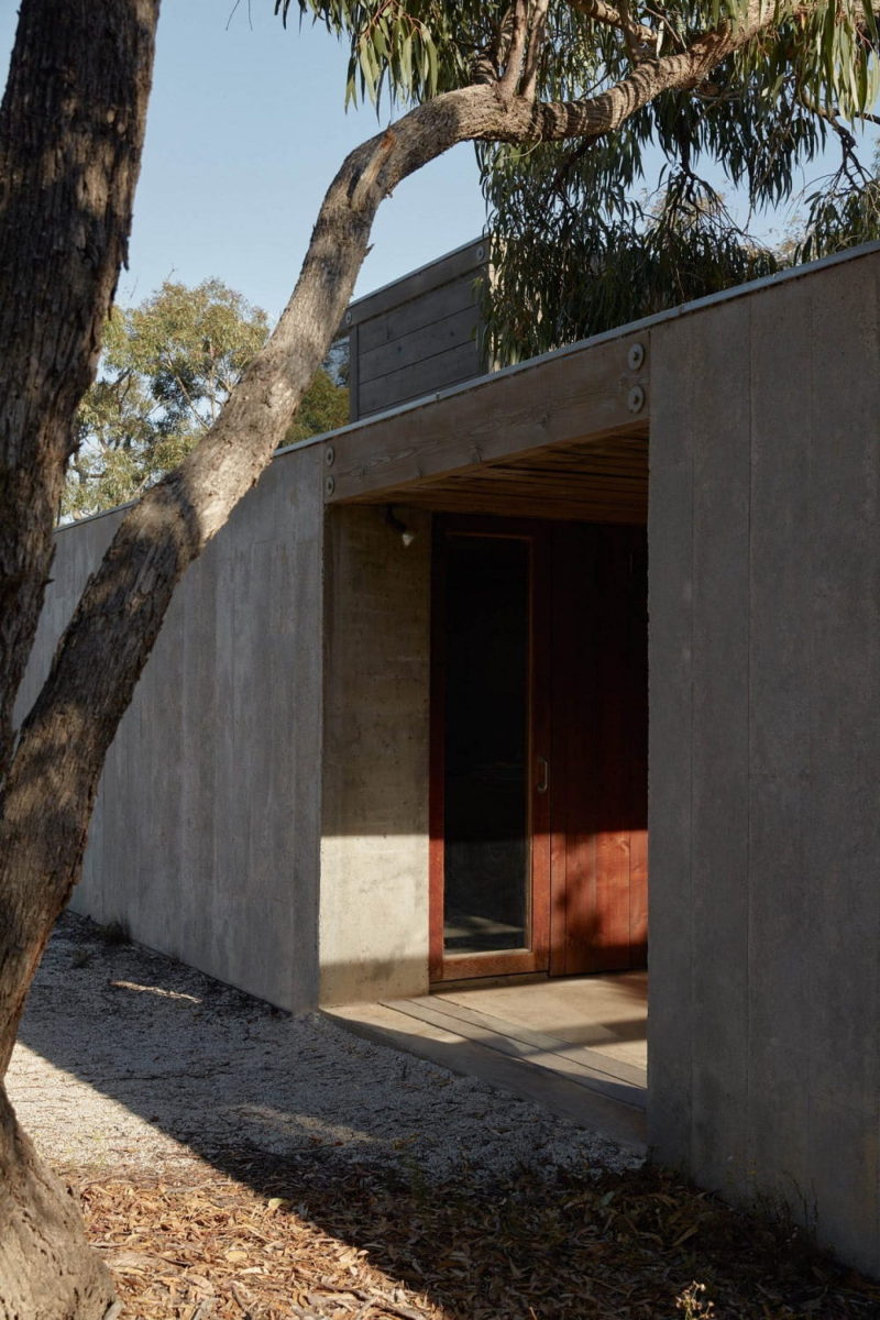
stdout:
<svg viewBox="0 0 880 1320">
<path fill-rule="evenodd" d="M 156 1168 L 243 1146 L 380 1163 L 442 1181 L 463 1168 L 633 1167 L 607 1139 L 483 1082 L 290 1018 L 179 962 L 112 944 L 67 913 L 8 1073 L 54 1164 Z"/>
</svg>

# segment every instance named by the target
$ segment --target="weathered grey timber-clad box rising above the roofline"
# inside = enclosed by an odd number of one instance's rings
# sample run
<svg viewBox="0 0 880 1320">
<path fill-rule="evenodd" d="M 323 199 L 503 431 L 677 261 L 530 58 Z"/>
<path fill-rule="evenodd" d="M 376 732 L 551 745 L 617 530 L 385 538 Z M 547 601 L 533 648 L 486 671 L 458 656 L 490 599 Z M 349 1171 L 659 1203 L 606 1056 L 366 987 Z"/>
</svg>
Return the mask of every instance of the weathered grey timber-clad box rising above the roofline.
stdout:
<svg viewBox="0 0 880 1320">
<path fill-rule="evenodd" d="M 488 239 L 475 239 L 352 302 L 350 420 L 396 408 L 486 370 L 479 343 Z"/>
</svg>

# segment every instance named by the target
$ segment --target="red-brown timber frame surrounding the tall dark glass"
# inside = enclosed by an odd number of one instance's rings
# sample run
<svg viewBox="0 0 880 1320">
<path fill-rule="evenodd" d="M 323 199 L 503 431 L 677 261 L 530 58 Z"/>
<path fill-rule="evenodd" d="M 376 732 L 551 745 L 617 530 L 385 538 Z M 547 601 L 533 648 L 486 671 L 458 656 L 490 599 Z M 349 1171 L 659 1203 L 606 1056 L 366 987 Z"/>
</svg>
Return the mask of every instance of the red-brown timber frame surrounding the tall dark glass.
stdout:
<svg viewBox="0 0 880 1320">
<path fill-rule="evenodd" d="M 446 640 L 446 544 L 450 535 L 501 537 L 529 544 L 529 677 L 528 677 L 528 836 L 529 849 L 529 949 L 489 953 L 451 953 L 443 948 L 445 875 L 445 640 Z M 532 519 L 501 519 L 443 513 L 434 517 L 431 556 L 431 676 L 430 676 L 430 842 L 429 842 L 429 979 L 470 981 L 479 977 L 546 973 L 550 966 L 550 793 L 538 791 L 538 758 L 550 764 L 550 709 L 536 701 L 549 684 L 550 540 L 546 523 Z"/>
</svg>

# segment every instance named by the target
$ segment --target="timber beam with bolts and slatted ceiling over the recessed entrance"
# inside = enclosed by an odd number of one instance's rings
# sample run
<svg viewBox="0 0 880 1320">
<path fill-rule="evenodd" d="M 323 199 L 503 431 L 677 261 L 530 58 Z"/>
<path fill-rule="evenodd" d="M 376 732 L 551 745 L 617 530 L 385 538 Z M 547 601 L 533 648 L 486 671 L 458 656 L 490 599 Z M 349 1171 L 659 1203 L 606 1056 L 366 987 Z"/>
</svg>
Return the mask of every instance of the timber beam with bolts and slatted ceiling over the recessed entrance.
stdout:
<svg viewBox="0 0 880 1320">
<path fill-rule="evenodd" d="M 338 436 L 326 499 L 644 523 L 648 350 L 623 335 Z"/>
</svg>

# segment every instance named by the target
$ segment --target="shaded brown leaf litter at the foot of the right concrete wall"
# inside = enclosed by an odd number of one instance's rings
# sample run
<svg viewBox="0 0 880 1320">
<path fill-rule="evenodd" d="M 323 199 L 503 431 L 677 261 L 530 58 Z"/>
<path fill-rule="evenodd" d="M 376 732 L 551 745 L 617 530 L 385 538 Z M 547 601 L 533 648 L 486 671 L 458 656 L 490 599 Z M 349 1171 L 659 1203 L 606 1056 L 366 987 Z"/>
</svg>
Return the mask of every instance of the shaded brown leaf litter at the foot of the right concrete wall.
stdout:
<svg viewBox="0 0 880 1320">
<path fill-rule="evenodd" d="M 231 1154 L 227 1168 L 462 1320 L 880 1313 L 880 1290 L 823 1259 L 790 1224 L 739 1214 L 657 1171 L 491 1184 L 464 1172 L 427 1188 L 417 1168 L 406 1177 L 263 1152 Z"/>
</svg>

